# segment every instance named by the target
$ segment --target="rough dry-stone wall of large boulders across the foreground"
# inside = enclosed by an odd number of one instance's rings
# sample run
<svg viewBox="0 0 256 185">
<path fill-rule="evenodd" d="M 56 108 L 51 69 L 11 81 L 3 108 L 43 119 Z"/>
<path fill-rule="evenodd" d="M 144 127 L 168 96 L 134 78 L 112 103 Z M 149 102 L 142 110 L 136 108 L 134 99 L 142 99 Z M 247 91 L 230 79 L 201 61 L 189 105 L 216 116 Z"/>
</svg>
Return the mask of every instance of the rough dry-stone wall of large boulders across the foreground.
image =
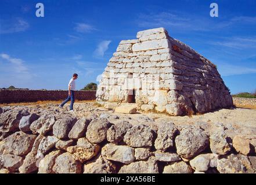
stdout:
<svg viewBox="0 0 256 185">
<path fill-rule="evenodd" d="M 221 124 L 207 132 L 200 123 L 113 119 L 0 108 L 0 173 L 255 173 L 255 135 L 230 139 Z"/>
</svg>

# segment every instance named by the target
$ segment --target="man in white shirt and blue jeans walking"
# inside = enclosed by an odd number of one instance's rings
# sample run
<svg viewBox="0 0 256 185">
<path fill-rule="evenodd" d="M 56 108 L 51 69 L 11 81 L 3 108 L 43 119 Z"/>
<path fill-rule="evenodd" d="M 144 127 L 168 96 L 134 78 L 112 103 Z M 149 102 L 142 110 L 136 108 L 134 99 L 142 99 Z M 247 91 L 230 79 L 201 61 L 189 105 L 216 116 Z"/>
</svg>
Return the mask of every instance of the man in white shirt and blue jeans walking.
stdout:
<svg viewBox="0 0 256 185">
<path fill-rule="evenodd" d="M 78 78 L 77 73 L 74 73 L 73 77 L 70 79 L 69 83 L 68 83 L 68 97 L 65 101 L 62 102 L 62 104 L 59 105 L 59 108 L 63 108 L 63 106 L 65 105 L 65 103 L 67 103 L 68 101 L 70 101 L 71 99 L 71 103 L 70 103 L 70 112 L 74 112 L 73 110 L 73 105 L 75 102 L 75 80 Z"/>
</svg>

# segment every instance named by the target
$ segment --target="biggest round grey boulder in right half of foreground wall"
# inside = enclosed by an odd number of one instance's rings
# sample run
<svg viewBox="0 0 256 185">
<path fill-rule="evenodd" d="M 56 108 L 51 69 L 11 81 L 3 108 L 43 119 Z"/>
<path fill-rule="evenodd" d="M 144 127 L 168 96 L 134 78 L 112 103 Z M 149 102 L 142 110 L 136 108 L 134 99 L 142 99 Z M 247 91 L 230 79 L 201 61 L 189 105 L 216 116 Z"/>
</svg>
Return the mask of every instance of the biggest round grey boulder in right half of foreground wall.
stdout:
<svg viewBox="0 0 256 185">
<path fill-rule="evenodd" d="M 209 146 L 209 139 L 203 129 L 186 126 L 176 136 L 175 144 L 180 156 L 192 158 Z"/>
</svg>

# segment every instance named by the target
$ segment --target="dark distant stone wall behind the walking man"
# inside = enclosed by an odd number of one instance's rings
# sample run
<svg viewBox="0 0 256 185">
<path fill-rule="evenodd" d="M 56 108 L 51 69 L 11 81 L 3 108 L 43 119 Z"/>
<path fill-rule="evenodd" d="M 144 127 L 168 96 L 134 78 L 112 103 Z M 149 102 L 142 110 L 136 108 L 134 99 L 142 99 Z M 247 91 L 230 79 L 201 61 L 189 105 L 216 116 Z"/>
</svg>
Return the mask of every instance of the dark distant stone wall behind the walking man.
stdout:
<svg viewBox="0 0 256 185">
<path fill-rule="evenodd" d="M 66 99 L 67 95 L 67 91 L 0 90 L 0 103 L 58 101 Z M 96 99 L 96 91 L 76 91 L 75 99 L 94 100 Z"/>
</svg>

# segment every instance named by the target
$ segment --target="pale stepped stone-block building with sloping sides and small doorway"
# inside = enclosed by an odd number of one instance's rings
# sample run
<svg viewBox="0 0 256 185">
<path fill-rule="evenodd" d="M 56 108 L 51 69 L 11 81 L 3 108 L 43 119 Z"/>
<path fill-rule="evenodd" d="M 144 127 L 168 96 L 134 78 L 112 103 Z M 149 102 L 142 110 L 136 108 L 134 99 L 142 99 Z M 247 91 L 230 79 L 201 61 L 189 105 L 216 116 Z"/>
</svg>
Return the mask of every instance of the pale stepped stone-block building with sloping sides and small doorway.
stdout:
<svg viewBox="0 0 256 185">
<path fill-rule="evenodd" d="M 164 28 L 122 40 L 105 68 L 98 102 L 129 102 L 171 115 L 204 113 L 233 105 L 217 68 Z"/>
</svg>

